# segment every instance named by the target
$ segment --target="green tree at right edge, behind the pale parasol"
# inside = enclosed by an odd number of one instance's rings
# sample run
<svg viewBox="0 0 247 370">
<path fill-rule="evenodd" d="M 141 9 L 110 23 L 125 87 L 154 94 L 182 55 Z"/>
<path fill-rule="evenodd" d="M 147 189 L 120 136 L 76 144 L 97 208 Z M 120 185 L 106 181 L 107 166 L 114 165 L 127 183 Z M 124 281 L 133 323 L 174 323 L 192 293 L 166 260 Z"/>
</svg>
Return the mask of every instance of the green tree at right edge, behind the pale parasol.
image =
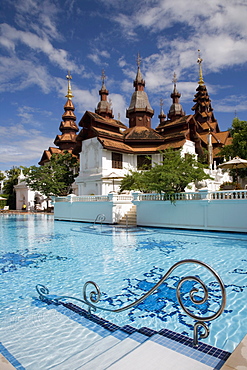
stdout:
<svg viewBox="0 0 247 370">
<path fill-rule="evenodd" d="M 232 143 L 225 145 L 221 151 L 220 156 L 226 157 L 227 159 L 240 157 L 247 159 L 247 121 L 240 121 L 239 118 L 234 118 L 232 121 L 232 127 L 229 129 L 232 136 Z M 232 171 L 232 175 L 236 178 L 236 170 Z M 246 177 L 247 170 L 239 169 L 238 176 Z"/>
</svg>

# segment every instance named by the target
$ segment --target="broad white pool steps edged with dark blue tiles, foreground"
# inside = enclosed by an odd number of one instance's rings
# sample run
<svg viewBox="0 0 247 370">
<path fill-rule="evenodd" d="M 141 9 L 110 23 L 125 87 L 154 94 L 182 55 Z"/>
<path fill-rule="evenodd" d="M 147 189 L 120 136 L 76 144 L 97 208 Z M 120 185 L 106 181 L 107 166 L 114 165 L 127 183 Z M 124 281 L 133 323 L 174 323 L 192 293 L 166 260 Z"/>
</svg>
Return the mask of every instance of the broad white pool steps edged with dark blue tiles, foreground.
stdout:
<svg viewBox="0 0 247 370">
<path fill-rule="evenodd" d="M 11 356 L 2 354 L 18 370 L 210 370 L 230 355 L 202 343 L 195 349 L 167 329 L 120 328 L 71 303 L 46 307 L 37 323 L 22 320 L 9 336 Z M 48 357 L 46 347 L 54 348 Z"/>
</svg>

